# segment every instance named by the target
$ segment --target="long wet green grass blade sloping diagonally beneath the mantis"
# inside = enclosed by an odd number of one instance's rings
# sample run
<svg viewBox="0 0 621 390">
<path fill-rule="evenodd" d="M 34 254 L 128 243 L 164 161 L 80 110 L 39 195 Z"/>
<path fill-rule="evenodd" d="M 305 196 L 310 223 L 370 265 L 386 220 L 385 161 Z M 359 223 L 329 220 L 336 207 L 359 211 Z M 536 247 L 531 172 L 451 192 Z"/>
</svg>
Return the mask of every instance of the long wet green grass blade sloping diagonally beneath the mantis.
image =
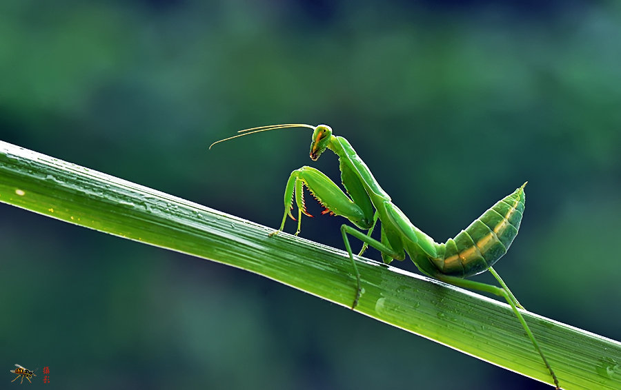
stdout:
<svg viewBox="0 0 621 390">
<path fill-rule="evenodd" d="M 346 253 L 0 141 L 0 201 L 68 223 L 239 267 L 348 308 Z M 357 311 L 542 382 L 508 305 L 358 258 Z M 522 311 L 564 389 L 621 389 L 621 343 Z M 493 318 L 493 321 L 491 321 Z"/>
</svg>

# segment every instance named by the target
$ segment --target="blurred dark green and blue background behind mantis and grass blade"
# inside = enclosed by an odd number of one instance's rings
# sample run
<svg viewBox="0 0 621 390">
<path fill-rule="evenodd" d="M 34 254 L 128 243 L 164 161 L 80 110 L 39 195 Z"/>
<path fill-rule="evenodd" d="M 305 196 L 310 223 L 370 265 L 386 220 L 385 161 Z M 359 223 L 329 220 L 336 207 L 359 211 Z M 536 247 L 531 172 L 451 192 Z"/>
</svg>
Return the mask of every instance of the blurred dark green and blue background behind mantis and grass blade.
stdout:
<svg viewBox="0 0 621 390">
<path fill-rule="evenodd" d="M 3 0 L 0 139 L 277 227 L 290 171 L 337 179 L 335 156 L 312 163 L 308 130 L 207 145 L 326 123 L 438 241 L 528 180 L 497 270 L 531 311 L 620 340 L 620 42 L 615 1 Z M 548 388 L 245 271 L 0 212 L 3 388 L 14 363 L 49 389 Z M 302 236 L 342 248 L 342 222 Z"/>
</svg>

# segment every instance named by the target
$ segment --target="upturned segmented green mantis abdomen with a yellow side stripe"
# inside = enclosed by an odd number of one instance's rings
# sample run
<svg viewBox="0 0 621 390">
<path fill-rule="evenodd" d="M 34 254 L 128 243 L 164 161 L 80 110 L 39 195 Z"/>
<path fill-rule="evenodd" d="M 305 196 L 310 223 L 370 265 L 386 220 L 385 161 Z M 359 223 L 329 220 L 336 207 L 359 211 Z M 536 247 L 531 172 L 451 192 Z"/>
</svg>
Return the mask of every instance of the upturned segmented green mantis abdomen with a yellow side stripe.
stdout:
<svg viewBox="0 0 621 390">
<path fill-rule="evenodd" d="M 455 238 L 439 245 L 440 256 L 433 263 L 442 274 L 468 278 L 485 271 L 506 254 L 522 222 L 524 185 L 498 201 Z"/>
</svg>

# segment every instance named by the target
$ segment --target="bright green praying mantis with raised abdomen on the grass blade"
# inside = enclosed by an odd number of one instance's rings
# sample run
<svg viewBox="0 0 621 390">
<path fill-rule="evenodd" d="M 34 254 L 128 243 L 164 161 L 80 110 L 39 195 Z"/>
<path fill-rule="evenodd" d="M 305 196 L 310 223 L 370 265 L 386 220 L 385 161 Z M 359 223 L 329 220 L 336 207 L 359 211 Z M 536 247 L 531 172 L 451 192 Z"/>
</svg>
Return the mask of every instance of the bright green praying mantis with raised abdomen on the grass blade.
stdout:
<svg viewBox="0 0 621 390">
<path fill-rule="evenodd" d="M 558 378 L 546 360 L 531 329 L 526 324 L 526 320 L 517 310 L 518 307 L 520 309 L 524 309 L 524 307 L 520 305 L 520 302 L 517 302 L 509 287 L 492 267 L 509 249 L 520 228 L 522 213 L 524 212 L 524 186 L 526 183 L 515 189 L 512 194 L 498 201 L 482 216 L 475 219 L 469 227 L 457 234 L 455 238 L 449 238 L 446 243 L 439 244 L 411 223 L 408 217 L 391 201 L 391 197 L 380 187 L 380 184 L 371 174 L 371 170 L 357 155 L 346 138 L 333 135 L 332 129 L 328 125 L 312 126 L 303 123 L 288 123 L 253 127 L 241 130 L 240 132 L 243 134 L 216 141 L 210 145 L 210 148 L 217 143 L 240 136 L 293 127 L 306 127 L 313 130 L 310 152 L 313 161 L 317 161 L 326 150 L 331 150 L 338 156 L 341 181 L 346 193 L 328 176 L 313 167 L 304 166 L 294 170 L 291 172 L 285 187 L 285 210 L 282 223 L 279 229 L 271 233 L 270 236 L 282 232 L 287 216 L 293 220 L 296 219 L 292 214 L 294 201 L 297 205 L 297 231 L 295 235 L 299 234 L 302 214 L 311 216 L 304 207 L 303 190 L 306 186 L 317 201 L 325 207 L 322 214 L 343 216 L 359 229 L 368 229 L 365 234 L 350 225 L 341 225 L 343 241 L 356 276 L 356 292 L 352 309 L 357 306 L 362 294 L 362 287 L 348 236 L 353 236 L 362 241 L 363 246 L 359 255 L 365 251 L 368 245 L 380 251 L 382 260 L 386 264 L 391 263 L 392 260 L 404 260 L 408 254 L 416 267 L 427 276 L 457 287 L 484 291 L 504 298 L 513 309 L 517 320 L 522 324 L 535 350 L 541 356 L 544 365 L 553 378 L 556 389 L 560 389 Z M 380 240 L 371 237 L 378 220 L 381 223 Z M 501 287 L 466 280 L 466 278 L 484 271 L 490 271 Z"/>
</svg>

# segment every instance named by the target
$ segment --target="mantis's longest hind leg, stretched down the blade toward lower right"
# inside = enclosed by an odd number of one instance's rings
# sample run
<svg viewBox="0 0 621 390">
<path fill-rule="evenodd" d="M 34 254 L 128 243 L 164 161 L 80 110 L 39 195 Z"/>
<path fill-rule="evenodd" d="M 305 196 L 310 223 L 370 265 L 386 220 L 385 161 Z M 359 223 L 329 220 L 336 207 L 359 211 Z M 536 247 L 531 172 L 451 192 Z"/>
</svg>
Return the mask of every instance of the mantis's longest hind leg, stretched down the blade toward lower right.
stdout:
<svg viewBox="0 0 621 390">
<path fill-rule="evenodd" d="M 493 271 L 491 267 L 489 269 Z M 494 274 L 494 276 L 497 276 L 495 271 L 493 271 L 492 274 Z M 522 324 L 524 331 L 526 331 L 526 334 L 529 336 L 529 339 L 531 339 L 531 342 L 533 342 L 533 346 L 535 347 L 535 350 L 541 356 L 544 364 L 546 365 L 546 368 L 548 369 L 548 371 L 550 372 L 550 375 L 552 376 L 552 379 L 554 380 L 556 389 L 560 389 L 559 384 L 558 384 L 558 378 L 556 378 L 556 375 L 554 371 L 552 370 L 552 367 L 548 363 L 548 360 L 546 360 L 546 357 L 544 356 L 544 353 L 539 347 L 537 340 L 535 340 L 535 336 L 533 335 L 533 332 L 531 332 L 529 325 L 526 324 L 526 320 L 524 320 L 524 317 L 522 316 L 520 311 L 517 310 L 518 306 L 523 309 L 522 305 L 520 305 L 520 303 L 518 303 L 517 300 L 515 300 L 515 296 L 511 294 L 511 291 L 509 290 L 508 287 L 506 287 L 504 282 L 502 283 L 502 288 L 500 288 L 500 287 L 496 287 L 493 285 L 487 285 L 485 283 L 475 282 L 473 280 L 457 278 L 455 276 L 447 276 L 447 275 L 440 274 L 440 275 L 435 275 L 435 277 L 438 278 L 439 280 L 442 280 L 443 282 L 449 283 L 457 287 L 464 287 L 466 289 L 474 289 L 474 290 L 479 290 L 479 291 L 484 291 L 490 294 L 494 294 L 497 296 L 502 296 L 502 298 L 504 298 L 506 302 L 508 302 L 509 305 L 511 305 L 511 309 L 513 309 L 513 313 L 515 313 L 517 320 L 520 321 L 520 324 Z M 500 276 L 498 276 L 497 279 L 502 280 L 500 279 Z"/>
</svg>

